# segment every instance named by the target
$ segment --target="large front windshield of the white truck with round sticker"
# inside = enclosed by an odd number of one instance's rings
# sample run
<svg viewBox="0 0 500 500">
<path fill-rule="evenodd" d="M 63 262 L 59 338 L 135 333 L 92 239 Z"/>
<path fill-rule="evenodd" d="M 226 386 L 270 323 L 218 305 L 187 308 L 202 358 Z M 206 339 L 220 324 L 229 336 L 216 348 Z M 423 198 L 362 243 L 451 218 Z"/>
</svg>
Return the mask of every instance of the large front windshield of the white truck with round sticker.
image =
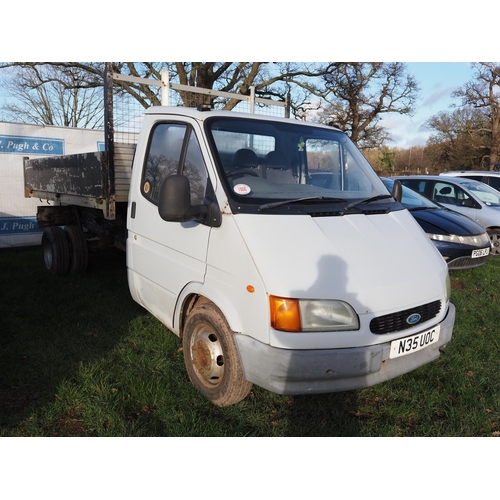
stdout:
<svg viewBox="0 0 500 500">
<path fill-rule="evenodd" d="M 394 204 L 364 156 L 335 129 L 231 117 L 206 124 L 233 211 L 283 210 L 288 202 L 296 211 Z"/>
</svg>

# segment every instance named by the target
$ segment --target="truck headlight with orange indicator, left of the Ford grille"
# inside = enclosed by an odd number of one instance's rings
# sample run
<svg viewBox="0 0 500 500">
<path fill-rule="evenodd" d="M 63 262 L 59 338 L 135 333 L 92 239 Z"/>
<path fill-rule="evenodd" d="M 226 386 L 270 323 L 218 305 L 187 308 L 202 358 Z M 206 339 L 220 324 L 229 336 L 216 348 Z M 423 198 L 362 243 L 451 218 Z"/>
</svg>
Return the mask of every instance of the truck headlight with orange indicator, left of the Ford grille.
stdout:
<svg viewBox="0 0 500 500">
<path fill-rule="evenodd" d="M 341 300 L 270 297 L 271 326 L 287 332 L 359 330 L 354 309 Z"/>
</svg>

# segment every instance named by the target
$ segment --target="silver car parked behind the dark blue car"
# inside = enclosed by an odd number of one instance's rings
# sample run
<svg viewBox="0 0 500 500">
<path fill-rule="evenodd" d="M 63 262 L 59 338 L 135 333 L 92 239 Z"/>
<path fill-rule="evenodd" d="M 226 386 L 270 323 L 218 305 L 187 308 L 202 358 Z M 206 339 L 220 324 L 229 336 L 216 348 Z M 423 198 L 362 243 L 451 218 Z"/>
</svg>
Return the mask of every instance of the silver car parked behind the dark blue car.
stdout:
<svg viewBox="0 0 500 500">
<path fill-rule="evenodd" d="M 459 212 L 481 225 L 490 236 L 491 255 L 500 255 L 500 193 L 465 177 L 409 175 L 399 179 L 426 198 Z"/>
</svg>

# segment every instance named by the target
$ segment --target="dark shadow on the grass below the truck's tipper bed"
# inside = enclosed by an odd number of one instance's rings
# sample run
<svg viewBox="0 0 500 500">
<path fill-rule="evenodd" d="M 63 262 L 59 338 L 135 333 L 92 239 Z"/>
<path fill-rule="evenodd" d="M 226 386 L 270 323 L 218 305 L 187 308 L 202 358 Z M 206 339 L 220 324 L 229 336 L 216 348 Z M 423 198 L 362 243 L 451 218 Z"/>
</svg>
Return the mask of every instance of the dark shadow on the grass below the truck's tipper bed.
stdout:
<svg viewBox="0 0 500 500">
<path fill-rule="evenodd" d="M 91 254 L 86 274 L 54 278 L 40 247 L 0 250 L 0 431 L 53 402 L 81 362 L 108 352 L 144 310 L 125 254 Z"/>
</svg>

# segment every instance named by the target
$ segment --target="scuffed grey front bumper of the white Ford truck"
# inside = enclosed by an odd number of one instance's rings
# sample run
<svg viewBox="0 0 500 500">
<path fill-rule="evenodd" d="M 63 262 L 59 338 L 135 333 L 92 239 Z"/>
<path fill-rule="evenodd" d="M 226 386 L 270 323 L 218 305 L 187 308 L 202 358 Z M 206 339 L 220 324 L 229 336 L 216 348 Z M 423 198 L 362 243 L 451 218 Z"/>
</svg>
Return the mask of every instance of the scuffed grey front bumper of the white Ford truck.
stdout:
<svg viewBox="0 0 500 500">
<path fill-rule="evenodd" d="M 277 394 L 319 394 L 371 387 L 436 360 L 450 340 L 455 306 L 440 324 L 439 341 L 389 359 L 390 342 L 348 349 L 294 350 L 271 347 L 235 334 L 246 380 Z"/>
</svg>

